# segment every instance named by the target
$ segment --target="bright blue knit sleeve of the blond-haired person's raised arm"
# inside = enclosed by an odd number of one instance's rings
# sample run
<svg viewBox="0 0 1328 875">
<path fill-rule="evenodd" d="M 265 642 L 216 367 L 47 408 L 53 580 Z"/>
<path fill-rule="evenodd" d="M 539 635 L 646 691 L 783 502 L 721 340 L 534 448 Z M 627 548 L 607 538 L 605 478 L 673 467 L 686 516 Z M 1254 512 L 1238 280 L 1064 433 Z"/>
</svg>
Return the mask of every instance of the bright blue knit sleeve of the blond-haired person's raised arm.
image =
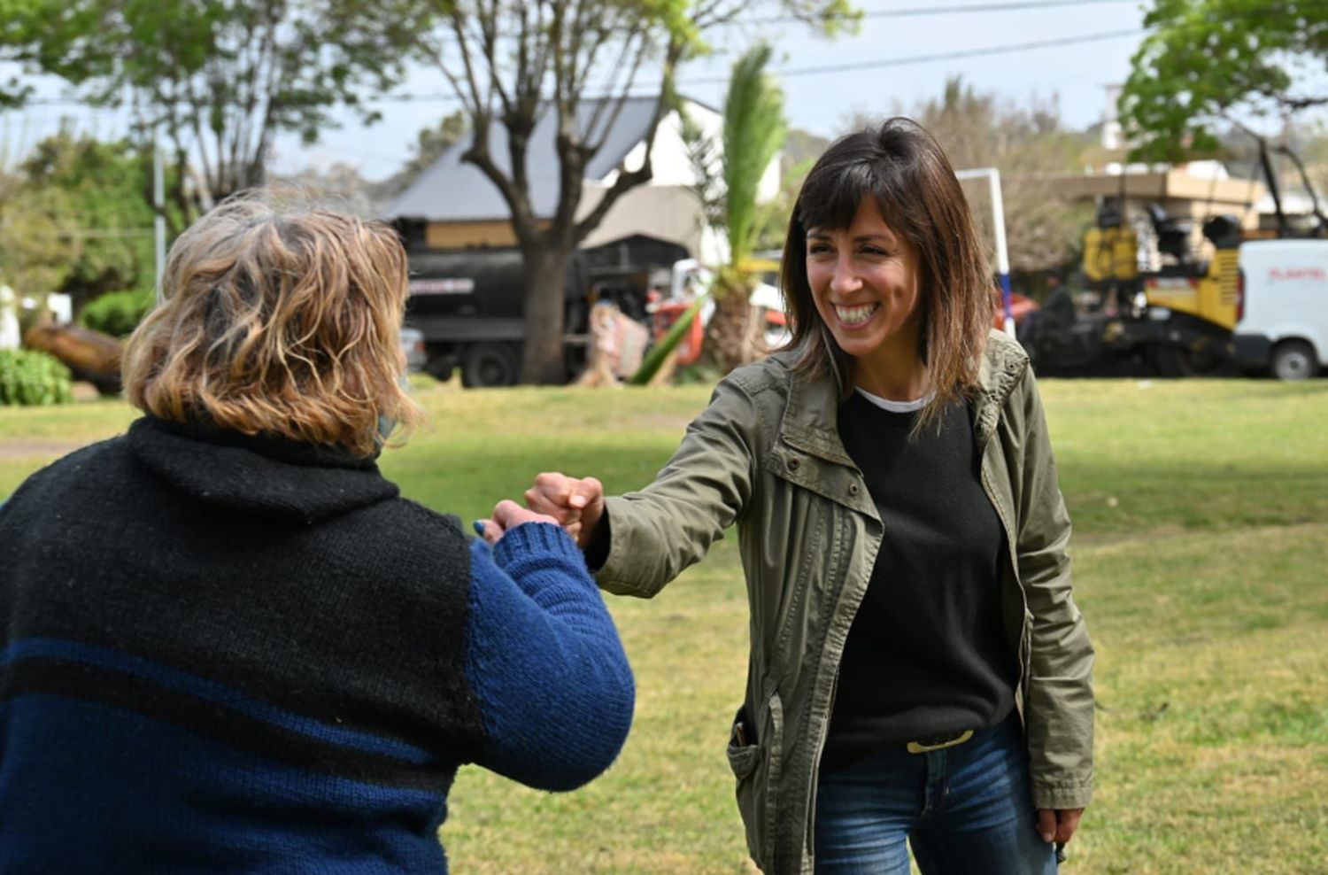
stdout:
<svg viewBox="0 0 1328 875">
<path fill-rule="evenodd" d="M 485 729 L 479 765 L 542 790 L 574 790 L 622 750 L 635 688 L 580 551 L 526 523 L 470 552 L 466 675 Z"/>
</svg>

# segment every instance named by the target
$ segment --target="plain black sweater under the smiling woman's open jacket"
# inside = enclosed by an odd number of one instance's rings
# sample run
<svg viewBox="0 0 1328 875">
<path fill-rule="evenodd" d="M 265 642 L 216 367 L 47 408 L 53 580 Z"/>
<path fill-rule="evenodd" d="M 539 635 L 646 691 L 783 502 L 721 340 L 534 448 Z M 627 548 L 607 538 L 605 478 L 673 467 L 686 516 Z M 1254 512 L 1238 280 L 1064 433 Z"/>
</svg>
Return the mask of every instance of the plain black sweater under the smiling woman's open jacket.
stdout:
<svg viewBox="0 0 1328 875">
<path fill-rule="evenodd" d="M 1017 664 L 1000 615 L 1000 518 L 983 491 L 968 408 L 908 439 L 915 413 L 859 394 L 839 436 L 884 539 L 839 663 L 827 771 L 886 745 L 983 729 L 1013 708 Z"/>
</svg>

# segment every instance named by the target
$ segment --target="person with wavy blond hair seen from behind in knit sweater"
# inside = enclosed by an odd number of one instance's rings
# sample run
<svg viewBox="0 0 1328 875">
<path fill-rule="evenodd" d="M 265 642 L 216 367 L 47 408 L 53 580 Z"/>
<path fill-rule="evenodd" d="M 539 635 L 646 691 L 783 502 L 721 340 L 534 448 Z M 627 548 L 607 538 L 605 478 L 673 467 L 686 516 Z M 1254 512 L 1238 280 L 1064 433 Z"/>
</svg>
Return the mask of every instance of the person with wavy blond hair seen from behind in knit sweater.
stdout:
<svg viewBox="0 0 1328 875">
<path fill-rule="evenodd" d="M 398 495 L 386 226 L 222 204 L 129 341 L 126 436 L 0 509 L 0 871 L 445 872 L 457 767 L 568 790 L 632 676 L 584 559 L 514 502 Z"/>
</svg>

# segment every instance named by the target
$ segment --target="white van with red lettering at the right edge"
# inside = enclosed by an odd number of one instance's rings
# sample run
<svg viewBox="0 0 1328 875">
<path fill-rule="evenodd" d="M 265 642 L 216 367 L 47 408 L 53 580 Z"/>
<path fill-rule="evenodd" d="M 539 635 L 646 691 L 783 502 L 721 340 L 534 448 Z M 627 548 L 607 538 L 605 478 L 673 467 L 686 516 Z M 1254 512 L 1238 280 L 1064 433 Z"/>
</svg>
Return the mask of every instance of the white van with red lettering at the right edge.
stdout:
<svg viewBox="0 0 1328 875">
<path fill-rule="evenodd" d="M 1240 244 L 1236 360 L 1280 380 L 1328 364 L 1328 240 Z"/>
</svg>

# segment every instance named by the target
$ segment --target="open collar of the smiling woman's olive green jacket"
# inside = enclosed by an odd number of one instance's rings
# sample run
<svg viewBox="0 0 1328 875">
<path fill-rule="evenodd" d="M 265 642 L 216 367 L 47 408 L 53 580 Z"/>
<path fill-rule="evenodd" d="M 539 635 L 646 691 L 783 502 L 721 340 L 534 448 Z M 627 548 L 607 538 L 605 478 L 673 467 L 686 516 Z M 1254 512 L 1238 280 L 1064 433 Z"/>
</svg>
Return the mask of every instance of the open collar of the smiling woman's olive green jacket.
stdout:
<svg viewBox="0 0 1328 875">
<path fill-rule="evenodd" d="M 770 358 L 785 369 L 789 402 L 780 437 L 790 446 L 810 453 L 827 462 L 853 466 L 843 442 L 839 439 L 839 388 L 829 374 L 807 378 L 797 373 L 795 352 L 778 352 Z M 969 404 L 973 406 L 975 433 L 979 443 L 996 430 L 1000 408 L 1013 392 L 1028 366 L 1023 347 L 1003 332 L 988 335 L 983 360 L 977 369 L 977 389 Z"/>
</svg>

